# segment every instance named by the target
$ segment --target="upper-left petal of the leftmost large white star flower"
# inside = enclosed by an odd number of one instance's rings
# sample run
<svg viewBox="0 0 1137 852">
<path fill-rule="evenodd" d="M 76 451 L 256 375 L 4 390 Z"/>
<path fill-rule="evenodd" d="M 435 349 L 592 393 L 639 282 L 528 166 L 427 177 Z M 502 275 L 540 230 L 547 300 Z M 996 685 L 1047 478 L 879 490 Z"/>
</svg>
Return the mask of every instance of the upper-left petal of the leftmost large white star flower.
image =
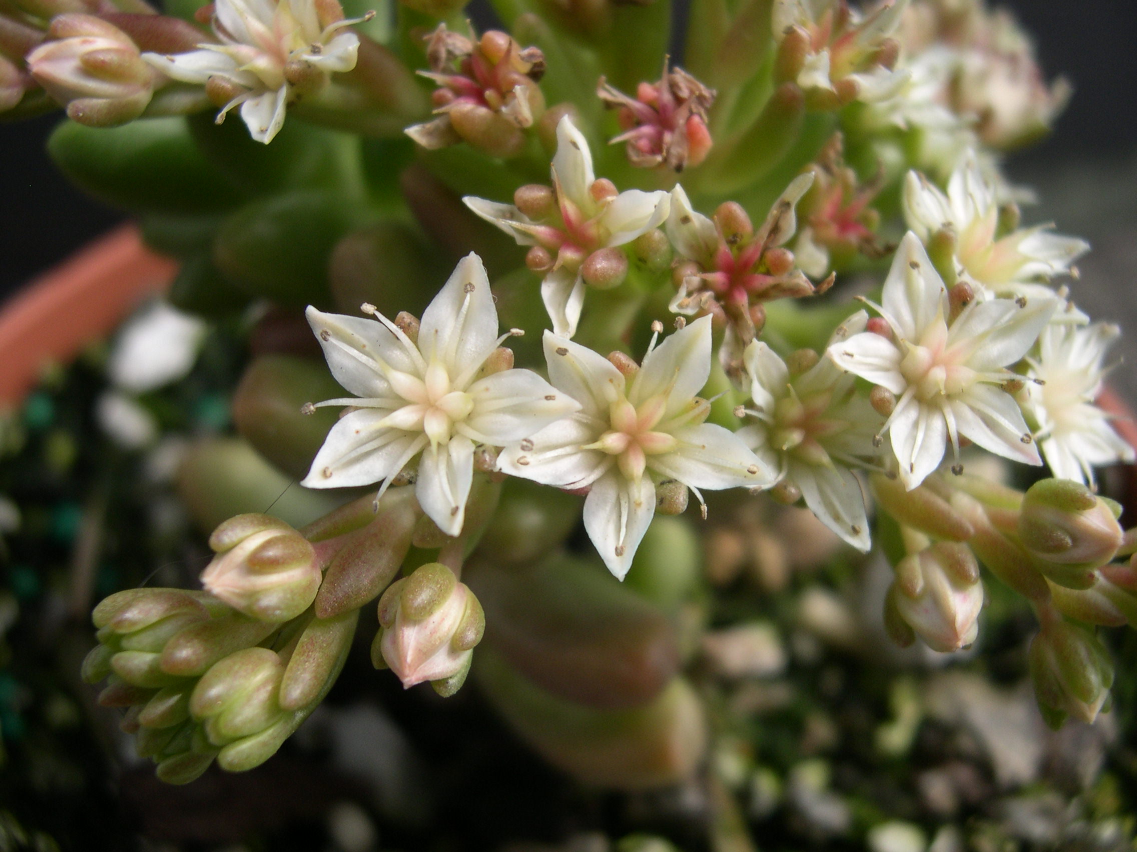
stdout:
<svg viewBox="0 0 1137 852">
<path fill-rule="evenodd" d="M 384 325 L 374 319 L 324 314 L 308 306 L 308 324 L 324 350 L 332 376 L 356 396 L 391 396 L 391 385 L 383 378 L 376 359 L 399 370 L 421 375 L 422 368 L 406 346 Z"/>
</svg>

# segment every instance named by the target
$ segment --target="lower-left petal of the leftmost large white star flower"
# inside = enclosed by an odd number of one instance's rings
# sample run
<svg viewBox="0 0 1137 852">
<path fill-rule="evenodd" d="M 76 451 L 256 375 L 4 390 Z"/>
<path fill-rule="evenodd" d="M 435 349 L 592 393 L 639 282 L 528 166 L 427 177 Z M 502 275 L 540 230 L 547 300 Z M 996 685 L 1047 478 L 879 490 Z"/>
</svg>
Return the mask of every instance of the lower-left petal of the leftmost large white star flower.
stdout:
<svg viewBox="0 0 1137 852">
<path fill-rule="evenodd" d="M 426 438 L 422 433 L 379 426 L 389 414 L 363 408 L 341 417 L 300 484 L 308 488 L 342 488 L 371 485 L 399 473 L 415 445 L 422 449 Z"/>
</svg>

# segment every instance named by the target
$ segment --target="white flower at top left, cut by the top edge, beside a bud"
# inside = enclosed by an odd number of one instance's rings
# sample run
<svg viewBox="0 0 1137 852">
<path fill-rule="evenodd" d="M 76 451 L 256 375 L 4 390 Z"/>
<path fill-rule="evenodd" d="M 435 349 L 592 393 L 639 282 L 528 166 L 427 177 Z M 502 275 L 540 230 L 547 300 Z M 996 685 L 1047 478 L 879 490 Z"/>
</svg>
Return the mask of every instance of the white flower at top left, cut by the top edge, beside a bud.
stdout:
<svg viewBox="0 0 1137 852">
<path fill-rule="evenodd" d="M 219 44 L 204 43 L 188 53 L 143 53 L 163 74 L 183 83 L 205 84 L 216 77 L 257 142 L 272 142 L 284 124 L 284 110 L 296 98 L 318 91 L 333 73 L 355 68 L 359 36 L 343 27 L 364 18 L 345 19 L 339 3 L 316 0 L 216 0 L 214 33 Z"/>
</svg>

